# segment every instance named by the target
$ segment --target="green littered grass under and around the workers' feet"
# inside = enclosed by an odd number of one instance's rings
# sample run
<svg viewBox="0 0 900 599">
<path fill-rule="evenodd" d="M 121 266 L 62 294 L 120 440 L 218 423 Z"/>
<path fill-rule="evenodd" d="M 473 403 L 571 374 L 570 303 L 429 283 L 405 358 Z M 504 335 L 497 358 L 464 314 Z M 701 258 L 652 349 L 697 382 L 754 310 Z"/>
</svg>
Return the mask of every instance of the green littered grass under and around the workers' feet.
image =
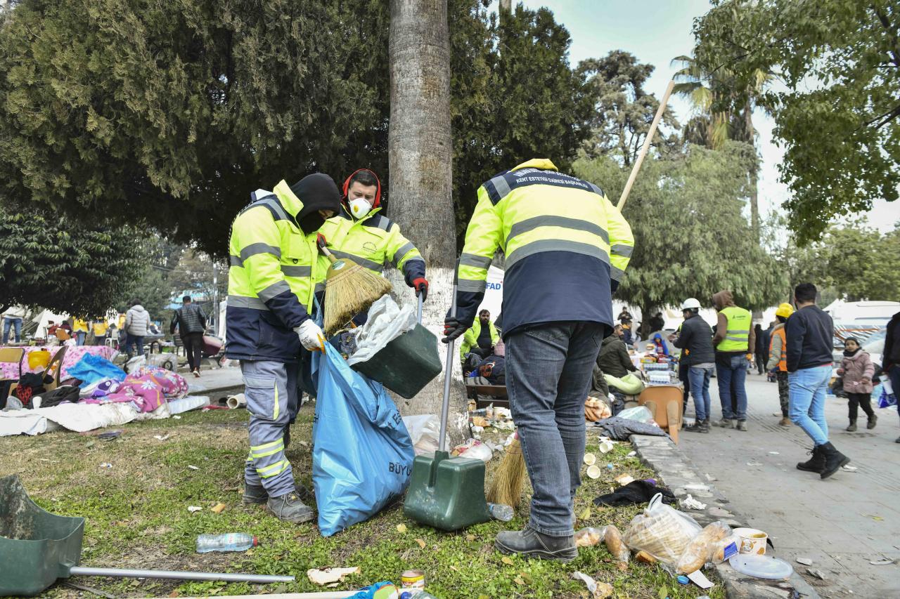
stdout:
<svg viewBox="0 0 900 599">
<path fill-rule="evenodd" d="M 518 515 L 510 523 L 483 523 L 461 532 L 437 532 L 407 520 L 399 506 L 365 523 L 324 539 L 314 523 L 281 523 L 260 506 L 240 504 L 244 459 L 247 455 L 247 412 L 191 412 L 181 419 L 125 425 L 125 433 L 112 442 L 92 435 L 61 432 L 38 437 L 0 438 L 0 472 L 16 473 L 35 502 L 56 514 L 87 519 L 82 565 L 110 568 L 160 568 L 289 574 L 296 582 L 275 586 L 226 583 L 179 583 L 165 580 L 79 578 L 82 585 L 113 595 L 249 595 L 323 590 L 306 577 L 309 568 L 354 567 L 361 573 L 348 577 L 339 589 L 352 589 L 381 580 L 399 582 L 401 571 L 425 572 L 428 590 L 437 597 L 581 597 L 583 584 L 572 579 L 581 570 L 616 589 L 616 597 L 696 597 L 696 586 L 680 586 L 662 568 L 632 562 L 626 572 L 617 569 L 604 546 L 582 548 L 570 564 L 513 558 L 512 563 L 493 549 L 497 532 L 517 530 L 527 518 L 527 487 Z M 311 488 L 312 407 L 304 407 L 292 430 L 288 457 L 294 476 Z M 490 430 L 490 429 L 489 429 Z M 156 434 L 171 434 L 163 442 Z M 582 526 L 615 523 L 621 530 L 639 513 L 638 507 L 598 508 L 591 500 L 614 487 L 613 478 L 628 473 L 648 478 L 653 472 L 639 460 L 628 458 L 628 443 L 601 455 L 597 434 L 589 432 L 588 451 L 603 469 L 598 480 L 583 477 L 575 512 L 590 507 Z M 112 469 L 100 464 L 112 463 Z M 500 463 L 495 457 L 491 472 Z M 199 469 L 191 469 L 189 466 Z M 210 507 L 227 505 L 221 514 Z M 188 512 L 199 505 L 201 512 Z M 405 532 L 398 524 L 405 524 Z M 250 532 L 260 544 L 246 553 L 194 552 L 196 536 L 215 532 Z M 420 546 L 420 542 L 424 547 Z M 712 577 L 712 575 L 710 575 Z M 57 585 L 46 596 L 76 596 L 70 587 Z M 708 592 L 714 599 L 725 594 L 720 586 Z M 173 595 L 175 596 L 175 595 Z"/>
</svg>

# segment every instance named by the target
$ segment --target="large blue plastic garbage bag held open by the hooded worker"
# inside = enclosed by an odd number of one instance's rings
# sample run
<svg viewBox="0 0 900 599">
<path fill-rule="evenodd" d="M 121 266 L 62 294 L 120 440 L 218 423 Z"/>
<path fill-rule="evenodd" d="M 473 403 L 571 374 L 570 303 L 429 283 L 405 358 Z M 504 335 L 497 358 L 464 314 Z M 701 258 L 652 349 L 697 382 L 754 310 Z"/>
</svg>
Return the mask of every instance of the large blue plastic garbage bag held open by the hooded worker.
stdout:
<svg viewBox="0 0 900 599">
<path fill-rule="evenodd" d="M 331 344 L 318 364 L 312 484 L 319 531 L 364 522 L 410 484 L 415 453 L 400 411 L 381 383 L 354 371 Z"/>
</svg>

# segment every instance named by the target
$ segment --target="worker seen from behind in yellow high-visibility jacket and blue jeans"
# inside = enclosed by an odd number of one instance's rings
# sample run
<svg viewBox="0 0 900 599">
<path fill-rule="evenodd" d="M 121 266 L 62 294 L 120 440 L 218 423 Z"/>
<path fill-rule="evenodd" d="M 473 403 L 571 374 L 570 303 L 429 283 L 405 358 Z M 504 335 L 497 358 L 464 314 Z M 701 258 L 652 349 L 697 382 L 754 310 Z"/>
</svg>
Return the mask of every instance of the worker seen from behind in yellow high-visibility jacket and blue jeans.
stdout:
<svg viewBox="0 0 900 599">
<path fill-rule="evenodd" d="M 501 250 L 509 407 L 535 490 L 527 528 L 497 535 L 504 553 L 578 556 L 572 500 L 581 484 L 584 400 L 634 246 L 626 219 L 599 187 L 557 172 L 550 160 L 529 160 L 478 190 L 444 341 L 472 326 Z"/>
</svg>

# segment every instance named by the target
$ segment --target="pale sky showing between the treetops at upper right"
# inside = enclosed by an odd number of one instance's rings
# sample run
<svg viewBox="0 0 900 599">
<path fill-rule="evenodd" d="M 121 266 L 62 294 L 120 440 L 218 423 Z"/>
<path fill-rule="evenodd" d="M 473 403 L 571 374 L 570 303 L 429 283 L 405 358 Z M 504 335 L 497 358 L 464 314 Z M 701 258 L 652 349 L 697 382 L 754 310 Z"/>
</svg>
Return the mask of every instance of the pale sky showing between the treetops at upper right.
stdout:
<svg viewBox="0 0 900 599">
<path fill-rule="evenodd" d="M 524 0 L 524 4 L 529 8 L 547 6 L 556 22 L 569 30 L 573 66 L 584 58 L 606 56 L 614 49 L 624 49 L 655 66 L 646 90 L 658 98 L 677 70 L 670 66 L 671 59 L 690 54 L 694 47 L 693 21 L 709 8 L 707 0 Z M 492 8 L 496 10 L 496 3 Z M 685 100 L 673 97 L 670 104 L 681 123 L 688 120 L 690 109 Z M 753 122 L 759 131 L 762 156 L 760 210 L 764 217 L 771 210 L 780 210 L 789 192 L 779 183 L 778 165 L 784 151 L 772 139 L 774 122 L 759 111 Z M 900 201 L 877 201 L 867 216 L 881 231 L 890 230 L 900 220 Z"/>
</svg>

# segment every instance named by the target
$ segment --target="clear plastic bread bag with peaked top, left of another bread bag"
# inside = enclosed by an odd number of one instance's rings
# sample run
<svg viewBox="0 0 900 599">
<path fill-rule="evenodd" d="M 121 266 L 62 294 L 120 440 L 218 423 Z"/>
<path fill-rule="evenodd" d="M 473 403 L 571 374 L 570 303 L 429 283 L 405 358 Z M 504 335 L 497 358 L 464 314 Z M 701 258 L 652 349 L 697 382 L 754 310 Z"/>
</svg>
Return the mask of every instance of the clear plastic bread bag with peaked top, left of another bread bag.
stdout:
<svg viewBox="0 0 900 599">
<path fill-rule="evenodd" d="M 645 551 L 663 566 L 678 566 L 681 554 L 702 529 L 688 514 L 662 503 L 657 493 L 642 514 L 637 514 L 623 535 L 628 549 Z"/>
</svg>

